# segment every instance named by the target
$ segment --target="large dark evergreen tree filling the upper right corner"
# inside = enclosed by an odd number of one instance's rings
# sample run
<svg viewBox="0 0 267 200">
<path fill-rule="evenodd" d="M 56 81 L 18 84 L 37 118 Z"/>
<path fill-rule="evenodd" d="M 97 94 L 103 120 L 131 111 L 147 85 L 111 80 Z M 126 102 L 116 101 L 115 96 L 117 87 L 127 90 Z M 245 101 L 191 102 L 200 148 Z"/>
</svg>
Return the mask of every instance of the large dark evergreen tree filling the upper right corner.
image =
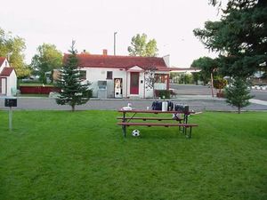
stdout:
<svg viewBox="0 0 267 200">
<path fill-rule="evenodd" d="M 194 30 L 207 49 L 220 53 L 223 75 L 242 77 L 266 69 L 266 33 L 266 0 L 229 0 L 221 20 Z"/>
</svg>

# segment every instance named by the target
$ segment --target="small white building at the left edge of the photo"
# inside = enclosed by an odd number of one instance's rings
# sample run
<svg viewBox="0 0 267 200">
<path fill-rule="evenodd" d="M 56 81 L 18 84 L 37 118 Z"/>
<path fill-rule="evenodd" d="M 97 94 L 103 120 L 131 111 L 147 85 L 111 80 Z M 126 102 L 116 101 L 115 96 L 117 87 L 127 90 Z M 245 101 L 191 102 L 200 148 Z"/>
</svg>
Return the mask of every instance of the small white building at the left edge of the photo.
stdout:
<svg viewBox="0 0 267 200">
<path fill-rule="evenodd" d="M 0 95 L 12 96 L 17 91 L 17 75 L 6 58 L 0 57 Z"/>
</svg>

